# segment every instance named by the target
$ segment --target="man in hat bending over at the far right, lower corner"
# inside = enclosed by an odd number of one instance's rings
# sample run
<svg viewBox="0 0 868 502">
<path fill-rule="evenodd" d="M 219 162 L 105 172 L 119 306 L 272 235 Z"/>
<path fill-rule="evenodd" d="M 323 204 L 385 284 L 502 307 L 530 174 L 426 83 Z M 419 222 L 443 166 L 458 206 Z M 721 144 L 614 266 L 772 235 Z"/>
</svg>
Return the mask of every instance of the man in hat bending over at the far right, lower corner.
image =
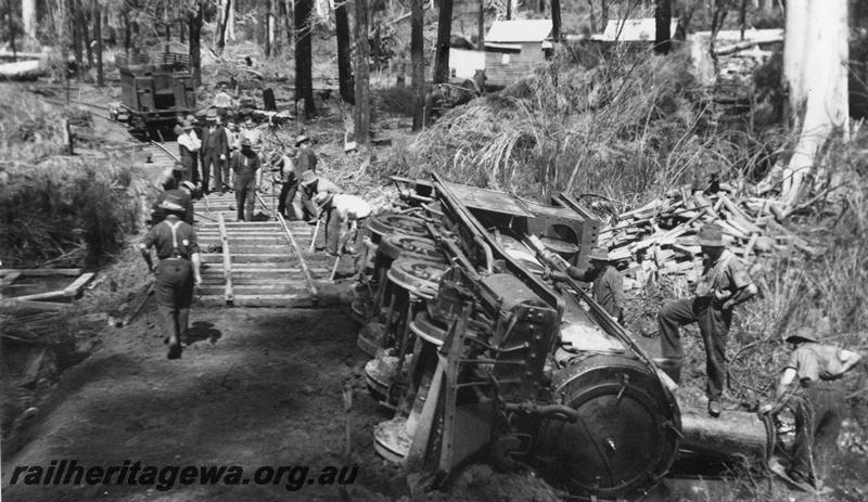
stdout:
<svg viewBox="0 0 868 502">
<path fill-rule="evenodd" d="M 800 327 L 787 337 L 792 353 L 775 391 L 775 402 L 760 409 L 777 413 L 790 406 L 795 414 L 795 440 L 787 475 L 817 487 L 826 478 L 841 432 L 840 379 L 861 361 L 861 356 L 819 343 L 816 330 Z"/>
</svg>

